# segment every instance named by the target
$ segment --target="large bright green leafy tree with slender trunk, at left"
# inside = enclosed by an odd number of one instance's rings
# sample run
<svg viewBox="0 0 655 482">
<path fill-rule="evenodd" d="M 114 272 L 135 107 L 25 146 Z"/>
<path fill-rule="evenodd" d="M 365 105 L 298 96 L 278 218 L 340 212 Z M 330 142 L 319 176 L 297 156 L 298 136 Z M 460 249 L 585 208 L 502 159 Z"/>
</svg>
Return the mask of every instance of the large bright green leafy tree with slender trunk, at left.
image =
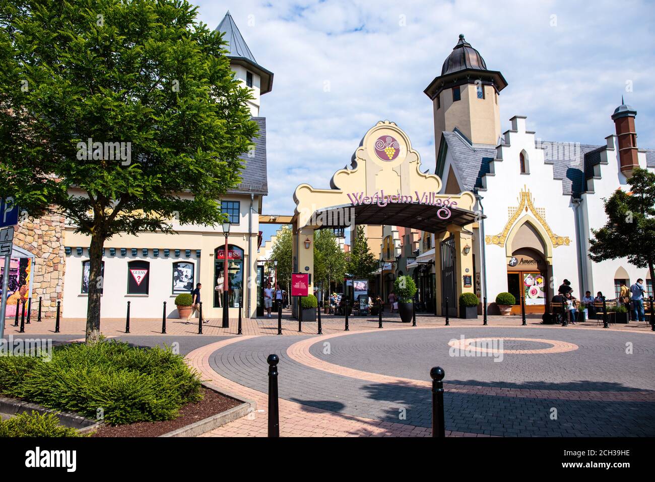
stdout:
<svg viewBox="0 0 655 482">
<path fill-rule="evenodd" d="M 0 197 L 90 237 L 87 342 L 105 241 L 215 225 L 240 182 L 252 96 L 197 16 L 185 0 L 0 0 Z"/>
</svg>

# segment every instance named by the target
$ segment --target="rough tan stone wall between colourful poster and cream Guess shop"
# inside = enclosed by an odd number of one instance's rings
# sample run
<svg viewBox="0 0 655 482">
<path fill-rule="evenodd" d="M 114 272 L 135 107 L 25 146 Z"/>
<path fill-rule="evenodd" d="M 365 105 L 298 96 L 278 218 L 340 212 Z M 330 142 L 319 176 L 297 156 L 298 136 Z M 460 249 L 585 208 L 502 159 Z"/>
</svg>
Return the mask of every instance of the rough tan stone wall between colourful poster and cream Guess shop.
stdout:
<svg viewBox="0 0 655 482">
<path fill-rule="evenodd" d="M 64 217 L 48 214 L 21 222 L 14 233 L 14 246 L 34 254 L 32 319 L 37 315 L 39 296 L 43 298 L 41 316 L 55 317 L 57 300 L 62 300 L 64 292 Z M 64 315 L 63 300 L 61 315 Z"/>
</svg>

